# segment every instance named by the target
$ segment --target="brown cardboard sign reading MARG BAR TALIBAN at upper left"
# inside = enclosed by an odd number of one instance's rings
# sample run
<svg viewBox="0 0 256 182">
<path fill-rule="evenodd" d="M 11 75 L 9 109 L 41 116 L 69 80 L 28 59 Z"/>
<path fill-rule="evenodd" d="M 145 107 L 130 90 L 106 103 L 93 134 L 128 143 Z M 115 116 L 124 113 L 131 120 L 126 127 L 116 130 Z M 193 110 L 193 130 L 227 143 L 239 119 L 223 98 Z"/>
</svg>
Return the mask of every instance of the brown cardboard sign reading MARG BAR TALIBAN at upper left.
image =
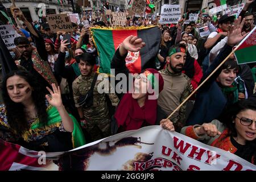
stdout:
<svg viewBox="0 0 256 182">
<path fill-rule="evenodd" d="M 67 14 L 47 15 L 46 19 L 53 33 L 57 33 L 57 31 L 72 31 L 72 23 Z"/>
</svg>

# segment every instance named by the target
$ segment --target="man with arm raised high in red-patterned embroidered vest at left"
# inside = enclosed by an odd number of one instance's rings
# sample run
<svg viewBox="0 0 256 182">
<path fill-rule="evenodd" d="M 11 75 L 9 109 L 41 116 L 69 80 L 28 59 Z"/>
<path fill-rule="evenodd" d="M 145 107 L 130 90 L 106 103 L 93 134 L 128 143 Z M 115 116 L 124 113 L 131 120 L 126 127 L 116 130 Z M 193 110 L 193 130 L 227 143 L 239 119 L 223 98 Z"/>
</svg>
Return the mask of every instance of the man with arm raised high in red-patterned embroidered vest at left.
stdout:
<svg viewBox="0 0 256 182">
<path fill-rule="evenodd" d="M 48 93 L 46 86 L 49 87 L 53 83 L 57 85 L 57 81 L 48 63 L 44 39 L 42 36 L 40 36 L 38 31 L 36 31 L 34 26 L 32 26 L 32 24 L 27 21 L 22 11 L 15 8 L 14 16 L 26 24 L 36 43 L 36 49 L 33 49 L 27 38 L 18 37 L 14 39 L 15 46 L 18 48 L 19 52 L 22 53 L 20 60 L 16 61 L 16 64 L 19 64 L 28 72 L 32 73 L 32 75 L 36 77 L 38 82 L 42 85 L 44 92 Z"/>
</svg>

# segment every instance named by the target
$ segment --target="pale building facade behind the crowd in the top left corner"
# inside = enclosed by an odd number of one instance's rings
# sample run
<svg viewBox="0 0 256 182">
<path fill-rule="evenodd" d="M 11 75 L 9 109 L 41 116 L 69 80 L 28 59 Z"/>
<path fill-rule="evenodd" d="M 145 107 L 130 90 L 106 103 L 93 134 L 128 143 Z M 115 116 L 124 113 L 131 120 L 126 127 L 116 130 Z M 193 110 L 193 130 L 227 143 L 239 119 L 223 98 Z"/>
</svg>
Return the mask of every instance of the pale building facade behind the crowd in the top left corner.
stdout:
<svg viewBox="0 0 256 182">
<path fill-rule="evenodd" d="M 11 1 L 3 0 L 3 6 L 6 7 L 7 11 L 11 15 L 10 6 Z M 16 6 L 22 10 L 24 16 L 28 21 L 32 22 L 35 20 L 39 20 L 38 11 L 40 9 L 40 3 L 44 3 L 46 5 L 46 14 L 59 14 L 61 12 L 72 12 L 72 6 L 69 1 L 63 0 L 63 5 L 59 5 L 57 0 L 15 0 Z M 75 3 L 75 1 L 74 1 Z"/>
</svg>

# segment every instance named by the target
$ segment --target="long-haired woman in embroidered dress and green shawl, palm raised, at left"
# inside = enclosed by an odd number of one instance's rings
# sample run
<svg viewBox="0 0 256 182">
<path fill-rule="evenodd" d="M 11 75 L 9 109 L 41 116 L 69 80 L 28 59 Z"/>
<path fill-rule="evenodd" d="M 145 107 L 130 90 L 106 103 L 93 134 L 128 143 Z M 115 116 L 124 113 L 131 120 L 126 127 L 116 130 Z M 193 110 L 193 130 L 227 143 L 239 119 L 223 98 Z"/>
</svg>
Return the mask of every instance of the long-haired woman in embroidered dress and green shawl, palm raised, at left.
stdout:
<svg viewBox="0 0 256 182">
<path fill-rule="evenodd" d="M 67 151 L 85 144 L 76 119 L 62 104 L 59 86 L 52 84 L 52 89 L 47 87 L 51 96 L 45 96 L 27 71 L 9 73 L 2 83 L 5 104 L 0 106 L 0 138 L 46 152 Z"/>
</svg>

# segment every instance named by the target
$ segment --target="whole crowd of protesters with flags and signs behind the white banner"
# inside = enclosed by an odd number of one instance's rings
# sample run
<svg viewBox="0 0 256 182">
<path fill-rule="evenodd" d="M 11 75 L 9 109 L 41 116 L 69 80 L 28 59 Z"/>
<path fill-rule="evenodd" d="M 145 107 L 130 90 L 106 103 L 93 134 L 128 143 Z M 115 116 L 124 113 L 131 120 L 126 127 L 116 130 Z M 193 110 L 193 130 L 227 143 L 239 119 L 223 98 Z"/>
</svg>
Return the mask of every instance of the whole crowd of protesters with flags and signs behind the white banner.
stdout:
<svg viewBox="0 0 256 182">
<path fill-rule="evenodd" d="M 180 11 L 163 18 L 131 7 L 77 22 L 65 13 L 28 22 L 13 6 L 0 16 L 0 139 L 61 152 L 161 125 L 255 165 L 253 2 L 233 15 L 176 20 Z"/>
</svg>

